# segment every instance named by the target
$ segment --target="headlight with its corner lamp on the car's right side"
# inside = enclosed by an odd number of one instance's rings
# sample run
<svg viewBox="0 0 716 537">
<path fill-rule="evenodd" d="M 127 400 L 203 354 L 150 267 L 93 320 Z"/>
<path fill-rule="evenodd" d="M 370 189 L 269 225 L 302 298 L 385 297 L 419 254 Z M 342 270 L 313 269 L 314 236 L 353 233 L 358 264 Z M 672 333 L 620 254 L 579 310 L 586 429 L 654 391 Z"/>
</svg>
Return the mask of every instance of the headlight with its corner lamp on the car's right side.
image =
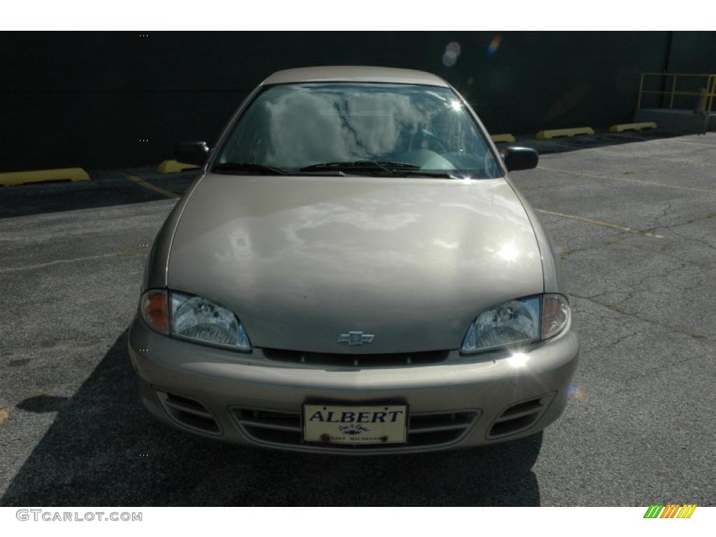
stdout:
<svg viewBox="0 0 716 537">
<path fill-rule="evenodd" d="M 561 332 L 569 321 L 569 304 L 560 294 L 508 300 L 483 311 L 470 324 L 462 352 L 547 339 Z"/>
</svg>

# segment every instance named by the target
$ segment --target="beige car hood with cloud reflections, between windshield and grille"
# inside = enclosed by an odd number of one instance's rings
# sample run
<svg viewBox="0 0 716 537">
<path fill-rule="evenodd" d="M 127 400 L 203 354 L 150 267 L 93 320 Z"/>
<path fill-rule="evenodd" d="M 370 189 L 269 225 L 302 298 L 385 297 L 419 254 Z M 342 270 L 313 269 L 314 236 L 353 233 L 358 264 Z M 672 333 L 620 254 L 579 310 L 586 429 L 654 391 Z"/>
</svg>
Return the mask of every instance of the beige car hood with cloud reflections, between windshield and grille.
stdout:
<svg viewBox="0 0 716 537">
<path fill-rule="evenodd" d="M 543 292 L 505 179 L 206 175 L 171 244 L 170 289 L 232 309 L 254 347 L 458 349 L 480 311 Z M 350 331 L 371 344 L 339 344 Z"/>
</svg>

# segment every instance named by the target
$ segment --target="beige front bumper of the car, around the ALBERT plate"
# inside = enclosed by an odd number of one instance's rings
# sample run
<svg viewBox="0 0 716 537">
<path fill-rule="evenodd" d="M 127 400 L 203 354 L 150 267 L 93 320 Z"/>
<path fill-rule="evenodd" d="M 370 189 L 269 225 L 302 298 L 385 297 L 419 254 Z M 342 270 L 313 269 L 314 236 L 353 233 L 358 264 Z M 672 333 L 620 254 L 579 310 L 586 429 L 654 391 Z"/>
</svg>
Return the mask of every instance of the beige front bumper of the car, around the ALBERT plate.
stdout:
<svg viewBox="0 0 716 537">
<path fill-rule="evenodd" d="M 468 448 L 532 435 L 564 410 L 579 355 L 571 324 L 526 349 L 400 367 L 318 367 L 269 360 L 167 337 L 135 319 L 129 352 L 142 402 L 163 422 L 243 445 L 323 453 Z M 308 443 L 304 402 L 408 405 L 400 445 Z"/>
</svg>

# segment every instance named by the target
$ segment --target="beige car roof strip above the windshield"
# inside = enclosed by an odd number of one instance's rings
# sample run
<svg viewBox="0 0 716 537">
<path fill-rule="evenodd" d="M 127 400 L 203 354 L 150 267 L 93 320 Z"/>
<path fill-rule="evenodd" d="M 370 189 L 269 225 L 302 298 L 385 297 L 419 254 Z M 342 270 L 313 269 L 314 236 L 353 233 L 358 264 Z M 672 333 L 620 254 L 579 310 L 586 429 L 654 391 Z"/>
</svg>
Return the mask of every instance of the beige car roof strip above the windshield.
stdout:
<svg viewBox="0 0 716 537">
<path fill-rule="evenodd" d="M 285 71 L 271 74 L 269 78 L 263 81 L 263 85 L 291 84 L 295 82 L 392 82 L 394 84 L 425 84 L 428 86 L 448 87 L 448 82 L 445 82 L 442 78 L 423 71 L 359 65 L 286 69 Z"/>
</svg>

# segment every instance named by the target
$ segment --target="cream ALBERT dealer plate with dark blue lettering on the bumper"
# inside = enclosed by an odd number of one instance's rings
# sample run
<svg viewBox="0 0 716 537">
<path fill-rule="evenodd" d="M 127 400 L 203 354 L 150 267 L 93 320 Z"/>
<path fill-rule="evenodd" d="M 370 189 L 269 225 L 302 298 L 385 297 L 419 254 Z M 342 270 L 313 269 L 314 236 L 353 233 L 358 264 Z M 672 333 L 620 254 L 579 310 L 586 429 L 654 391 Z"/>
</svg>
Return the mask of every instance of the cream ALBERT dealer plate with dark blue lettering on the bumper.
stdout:
<svg viewBox="0 0 716 537">
<path fill-rule="evenodd" d="M 334 444 L 405 442 L 407 405 L 304 405 L 304 440 Z"/>
</svg>

